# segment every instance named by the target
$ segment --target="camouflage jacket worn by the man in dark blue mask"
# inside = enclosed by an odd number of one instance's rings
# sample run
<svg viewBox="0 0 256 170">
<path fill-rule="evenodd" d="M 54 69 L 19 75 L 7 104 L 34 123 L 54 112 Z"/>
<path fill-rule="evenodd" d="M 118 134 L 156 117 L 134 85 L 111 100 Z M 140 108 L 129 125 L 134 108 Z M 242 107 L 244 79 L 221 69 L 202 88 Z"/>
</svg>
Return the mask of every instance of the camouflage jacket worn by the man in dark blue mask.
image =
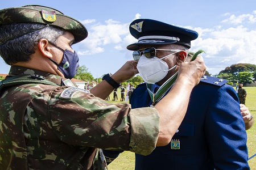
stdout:
<svg viewBox="0 0 256 170">
<path fill-rule="evenodd" d="M 38 74 L 59 86 L 22 84 L 0 92 L 0 169 L 107 169 L 100 149 L 154 150 L 154 108 L 112 104 L 57 75 L 11 66 L 9 75 Z"/>
</svg>

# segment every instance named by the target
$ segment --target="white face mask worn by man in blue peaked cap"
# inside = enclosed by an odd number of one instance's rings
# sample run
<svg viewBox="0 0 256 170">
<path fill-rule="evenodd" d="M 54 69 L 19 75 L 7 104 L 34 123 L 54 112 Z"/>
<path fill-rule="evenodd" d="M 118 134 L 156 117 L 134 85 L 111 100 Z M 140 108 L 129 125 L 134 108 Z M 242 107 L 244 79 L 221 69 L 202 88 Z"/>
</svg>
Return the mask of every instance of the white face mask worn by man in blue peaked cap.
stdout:
<svg viewBox="0 0 256 170">
<path fill-rule="evenodd" d="M 171 55 L 173 54 L 170 54 L 168 56 Z M 166 58 L 168 56 L 165 56 L 163 58 Z M 167 63 L 162 60 L 163 58 L 146 58 L 144 54 L 141 56 L 141 58 L 139 58 L 137 69 L 139 71 L 139 74 L 141 74 L 144 82 L 149 84 L 159 82 L 167 75 L 168 71 L 176 67 L 175 65 L 171 69 L 168 69 Z"/>
</svg>

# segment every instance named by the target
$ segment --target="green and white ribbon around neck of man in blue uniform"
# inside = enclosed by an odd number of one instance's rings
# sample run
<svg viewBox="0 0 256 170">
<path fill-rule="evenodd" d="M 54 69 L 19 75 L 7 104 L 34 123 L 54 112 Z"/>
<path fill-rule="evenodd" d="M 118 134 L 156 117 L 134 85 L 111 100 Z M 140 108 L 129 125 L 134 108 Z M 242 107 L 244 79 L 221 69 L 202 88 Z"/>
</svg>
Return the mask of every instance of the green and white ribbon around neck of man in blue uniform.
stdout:
<svg viewBox="0 0 256 170">
<path fill-rule="evenodd" d="M 167 93 L 167 91 L 170 90 L 170 88 L 176 82 L 177 75 L 178 75 L 178 72 L 172 75 L 171 78 L 169 78 L 166 82 L 162 84 L 162 86 L 159 87 L 158 91 L 156 91 L 155 94 L 154 94 L 154 84 L 146 83 L 148 94 L 150 95 L 152 100 L 152 105 L 154 105 L 156 102 L 161 100 L 163 96 Z"/>
</svg>

